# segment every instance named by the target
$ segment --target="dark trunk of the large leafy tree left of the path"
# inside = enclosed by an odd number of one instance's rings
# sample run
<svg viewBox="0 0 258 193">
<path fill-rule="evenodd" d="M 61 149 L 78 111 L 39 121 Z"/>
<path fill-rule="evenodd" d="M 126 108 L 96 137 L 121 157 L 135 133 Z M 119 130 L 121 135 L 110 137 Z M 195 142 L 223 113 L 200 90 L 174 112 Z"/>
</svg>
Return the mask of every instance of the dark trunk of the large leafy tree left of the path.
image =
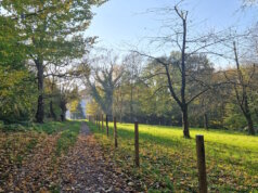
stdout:
<svg viewBox="0 0 258 193">
<path fill-rule="evenodd" d="M 36 60 L 37 66 L 37 78 L 38 78 L 38 108 L 36 113 L 36 121 L 43 124 L 44 118 L 44 106 L 43 106 L 43 62 L 41 60 Z"/>
</svg>

